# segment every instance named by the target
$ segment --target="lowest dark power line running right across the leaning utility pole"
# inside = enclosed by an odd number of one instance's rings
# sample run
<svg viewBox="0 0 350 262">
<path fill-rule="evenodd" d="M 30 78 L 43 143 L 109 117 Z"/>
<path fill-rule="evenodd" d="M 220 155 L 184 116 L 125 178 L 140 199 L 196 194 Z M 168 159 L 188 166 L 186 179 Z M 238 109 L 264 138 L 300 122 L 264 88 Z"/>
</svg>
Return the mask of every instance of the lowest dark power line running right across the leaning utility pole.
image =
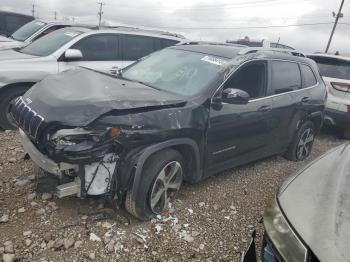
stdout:
<svg viewBox="0 0 350 262">
<path fill-rule="evenodd" d="M 236 30 L 236 29 L 262 29 L 262 28 L 283 28 L 283 27 L 301 27 L 301 26 L 316 26 L 316 25 L 330 25 L 333 22 L 324 23 L 305 23 L 305 24 L 289 24 L 289 25 L 267 25 L 267 26 L 243 26 L 243 27 L 173 27 L 173 26 L 161 26 L 153 28 L 169 28 L 178 30 Z M 340 25 L 350 25 L 350 23 L 338 23 Z"/>
</svg>

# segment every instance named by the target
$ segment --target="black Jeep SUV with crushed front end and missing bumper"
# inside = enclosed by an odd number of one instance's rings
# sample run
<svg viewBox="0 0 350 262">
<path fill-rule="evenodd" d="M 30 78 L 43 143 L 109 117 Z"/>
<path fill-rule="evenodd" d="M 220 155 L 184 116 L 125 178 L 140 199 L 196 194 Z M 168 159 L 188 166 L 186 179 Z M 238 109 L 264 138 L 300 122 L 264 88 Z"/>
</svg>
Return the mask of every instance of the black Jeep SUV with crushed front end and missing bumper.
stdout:
<svg viewBox="0 0 350 262">
<path fill-rule="evenodd" d="M 150 219 L 183 180 L 274 154 L 309 156 L 326 88 L 300 55 L 179 44 L 117 76 L 83 68 L 49 76 L 11 115 L 32 160 L 62 179 L 59 197 L 105 194 Z"/>
</svg>

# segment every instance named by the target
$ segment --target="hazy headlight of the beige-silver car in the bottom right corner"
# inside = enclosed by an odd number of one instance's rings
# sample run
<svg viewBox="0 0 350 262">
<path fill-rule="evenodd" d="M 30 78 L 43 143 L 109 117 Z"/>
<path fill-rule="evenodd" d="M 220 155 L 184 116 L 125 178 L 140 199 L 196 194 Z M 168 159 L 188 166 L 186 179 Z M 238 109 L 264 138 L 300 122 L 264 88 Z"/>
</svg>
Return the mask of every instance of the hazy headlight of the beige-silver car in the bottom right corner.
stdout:
<svg viewBox="0 0 350 262">
<path fill-rule="evenodd" d="M 307 248 L 289 226 L 276 199 L 266 209 L 263 221 L 267 235 L 285 261 L 306 261 Z"/>
</svg>

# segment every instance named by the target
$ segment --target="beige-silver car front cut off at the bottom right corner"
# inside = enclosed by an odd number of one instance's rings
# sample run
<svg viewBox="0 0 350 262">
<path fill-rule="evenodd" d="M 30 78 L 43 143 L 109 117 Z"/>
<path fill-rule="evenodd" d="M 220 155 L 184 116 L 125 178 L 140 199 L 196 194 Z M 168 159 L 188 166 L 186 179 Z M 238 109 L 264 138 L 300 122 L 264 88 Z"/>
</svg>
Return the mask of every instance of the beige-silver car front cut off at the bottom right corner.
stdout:
<svg viewBox="0 0 350 262">
<path fill-rule="evenodd" d="M 264 214 L 263 262 L 349 261 L 349 165 L 343 144 L 285 180 Z"/>
</svg>

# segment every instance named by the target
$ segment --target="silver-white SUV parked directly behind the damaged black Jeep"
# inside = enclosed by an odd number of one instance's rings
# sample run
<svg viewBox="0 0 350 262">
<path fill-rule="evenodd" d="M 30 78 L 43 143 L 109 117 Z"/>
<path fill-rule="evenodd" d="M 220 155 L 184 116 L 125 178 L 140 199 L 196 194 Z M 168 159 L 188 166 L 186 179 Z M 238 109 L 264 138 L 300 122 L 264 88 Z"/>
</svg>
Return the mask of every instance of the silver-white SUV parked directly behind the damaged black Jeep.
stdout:
<svg viewBox="0 0 350 262">
<path fill-rule="evenodd" d="M 116 74 L 156 50 L 185 38 L 135 28 L 57 30 L 22 49 L 0 51 L 0 127 L 13 129 L 9 106 L 32 85 L 50 74 L 83 66 Z"/>
</svg>

